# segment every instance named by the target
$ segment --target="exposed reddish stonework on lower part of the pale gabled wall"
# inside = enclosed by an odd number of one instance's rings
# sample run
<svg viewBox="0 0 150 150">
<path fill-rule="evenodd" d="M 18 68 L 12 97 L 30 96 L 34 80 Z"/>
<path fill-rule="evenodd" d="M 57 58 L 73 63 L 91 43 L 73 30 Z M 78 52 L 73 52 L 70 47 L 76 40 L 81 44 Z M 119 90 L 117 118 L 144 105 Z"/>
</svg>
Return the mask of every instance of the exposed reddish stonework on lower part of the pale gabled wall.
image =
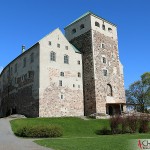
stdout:
<svg viewBox="0 0 150 150">
<path fill-rule="evenodd" d="M 59 77 L 59 74 L 59 69 L 49 68 L 49 86 L 44 89 L 40 98 L 40 117 L 83 116 L 82 89 L 58 86 L 53 79 Z M 65 78 L 73 76 L 69 71 L 64 74 Z"/>
</svg>

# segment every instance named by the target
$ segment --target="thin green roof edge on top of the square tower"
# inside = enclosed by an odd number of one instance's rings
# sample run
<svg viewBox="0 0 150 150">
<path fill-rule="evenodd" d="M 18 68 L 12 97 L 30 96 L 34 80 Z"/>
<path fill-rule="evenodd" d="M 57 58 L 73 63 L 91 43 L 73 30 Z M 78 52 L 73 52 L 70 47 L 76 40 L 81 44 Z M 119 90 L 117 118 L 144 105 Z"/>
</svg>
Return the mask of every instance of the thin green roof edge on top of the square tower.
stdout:
<svg viewBox="0 0 150 150">
<path fill-rule="evenodd" d="M 112 23 L 112 22 L 110 22 L 110 21 L 107 21 L 106 19 L 104 19 L 104 18 L 102 18 L 102 17 L 99 17 L 98 15 L 94 14 L 94 13 L 91 12 L 91 11 L 88 11 L 88 12 L 86 12 L 85 14 L 83 14 L 82 16 L 80 16 L 78 19 L 76 19 L 75 21 L 73 21 L 72 23 L 70 23 L 68 26 L 66 26 L 65 29 L 68 28 L 69 26 L 71 26 L 72 24 L 74 24 L 75 22 L 80 21 L 81 19 L 83 19 L 84 17 L 86 17 L 86 16 L 88 16 L 88 15 L 92 15 L 92 16 L 98 18 L 98 19 L 104 20 L 105 22 L 107 22 L 107 23 L 109 23 L 109 24 L 111 24 L 111 25 L 113 25 L 113 26 L 116 26 L 114 23 Z"/>
</svg>

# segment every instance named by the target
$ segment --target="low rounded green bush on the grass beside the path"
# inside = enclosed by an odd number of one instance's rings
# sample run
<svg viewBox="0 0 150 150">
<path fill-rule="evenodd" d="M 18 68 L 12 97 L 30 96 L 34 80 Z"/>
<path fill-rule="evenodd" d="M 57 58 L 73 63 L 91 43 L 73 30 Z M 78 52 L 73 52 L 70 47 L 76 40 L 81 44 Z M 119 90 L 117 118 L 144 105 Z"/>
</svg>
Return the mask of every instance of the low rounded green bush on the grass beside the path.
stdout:
<svg viewBox="0 0 150 150">
<path fill-rule="evenodd" d="M 19 128 L 15 134 L 20 137 L 60 137 L 62 136 L 62 128 L 56 125 L 49 126 L 24 126 Z"/>
</svg>

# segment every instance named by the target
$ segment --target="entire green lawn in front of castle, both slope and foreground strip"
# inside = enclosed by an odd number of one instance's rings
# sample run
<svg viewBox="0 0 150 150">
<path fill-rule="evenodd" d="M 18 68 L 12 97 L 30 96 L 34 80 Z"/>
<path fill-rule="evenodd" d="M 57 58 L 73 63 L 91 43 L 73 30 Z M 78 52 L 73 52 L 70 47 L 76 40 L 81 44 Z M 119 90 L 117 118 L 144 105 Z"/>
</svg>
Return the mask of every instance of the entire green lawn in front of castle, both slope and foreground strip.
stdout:
<svg viewBox="0 0 150 150">
<path fill-rule="evenodd" d="M 82 120 L 79 118 L 33 118 L 12 120 L 15 132 L 19 126 L 57 124 L 63 128 L 63 137 L 36 140 L 35 142 L 54 150 L 133 150 L 130 139 L 149 138 L 150 134 L 96 135 L 95 132 L 109 126 L 108 120 Z"/>
</svg>

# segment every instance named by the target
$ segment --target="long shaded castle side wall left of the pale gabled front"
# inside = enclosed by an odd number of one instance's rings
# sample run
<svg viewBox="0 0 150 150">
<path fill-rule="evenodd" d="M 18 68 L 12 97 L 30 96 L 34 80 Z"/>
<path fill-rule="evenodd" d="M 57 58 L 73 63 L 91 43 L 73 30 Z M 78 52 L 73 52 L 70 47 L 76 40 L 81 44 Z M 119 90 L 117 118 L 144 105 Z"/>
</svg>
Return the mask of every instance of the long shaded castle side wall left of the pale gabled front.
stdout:
<svg viewBox="0 0 150 150">
<path fill-rule="evenodd" d="M 31 63 L 31 54 L 34 61 Z M 24 58 L 26 65 L 24 66 Z M 17 67 L 15 67 L 17 64 Z M 15 69 L 17 68 L 17 70 Z M 34 45 L 4 68 L 0 75 L 0 116 L 39 115 L 39 48 Z"/>
</svg>

